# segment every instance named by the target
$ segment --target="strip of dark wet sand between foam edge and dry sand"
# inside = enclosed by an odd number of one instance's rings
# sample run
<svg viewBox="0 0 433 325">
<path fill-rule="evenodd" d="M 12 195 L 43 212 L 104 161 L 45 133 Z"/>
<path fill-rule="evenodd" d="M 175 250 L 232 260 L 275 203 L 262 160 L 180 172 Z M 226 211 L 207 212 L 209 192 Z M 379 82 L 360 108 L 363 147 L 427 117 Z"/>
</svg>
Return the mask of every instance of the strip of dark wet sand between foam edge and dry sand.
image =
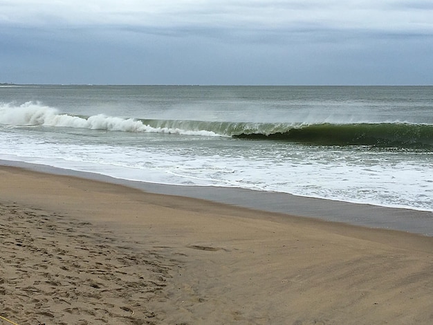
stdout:
<svg viewBox="0 0 433 325">
<path fill-rule="evenodd" d="M 399 230 L 433 236 L 433 212 L 365 203 L 334 201 L 279 192 L 261 192 L 234 187 L 165 185 L 113 178 L 87 171 L 74 171 L 48 165 L 0 160 L 0 167 L 20 167 L 44 174 L 74 176 L 104 183 L 123 185 L 143 192 L 199 198 L 252 210 L 289 214 L 367 228 Z"/>
</svg>

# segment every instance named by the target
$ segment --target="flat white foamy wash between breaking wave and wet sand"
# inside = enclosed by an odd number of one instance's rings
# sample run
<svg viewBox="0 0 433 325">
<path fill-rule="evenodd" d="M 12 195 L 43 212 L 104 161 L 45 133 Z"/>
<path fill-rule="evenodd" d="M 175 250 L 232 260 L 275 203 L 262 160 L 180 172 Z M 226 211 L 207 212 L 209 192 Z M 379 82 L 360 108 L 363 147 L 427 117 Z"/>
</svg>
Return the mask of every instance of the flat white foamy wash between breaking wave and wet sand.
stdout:
<svg viewBox="0 0 433 325">
<path fill-rule="evenodd" d="M 374 151 L 290 151 L 284 145 L 269 151 L 255 142 L 248 142 L 252 147 L 243 147 L 242 155 L 236 148 L 210 155 L 205 147 L 159 149 L 149 141 L 121 148 L 91 143 L 91 138 L 87 143 L 52 141 L 33 133 L 0 133 L 0 147 L 8 153 L 0 158 L 149 183 L 241 187 L 433 211 L 431 156 L 420 165 L 409 157 L 402 162 L 398 155 Z M 280 156 L 275 155 L 278 150 Z"/>
</svg>

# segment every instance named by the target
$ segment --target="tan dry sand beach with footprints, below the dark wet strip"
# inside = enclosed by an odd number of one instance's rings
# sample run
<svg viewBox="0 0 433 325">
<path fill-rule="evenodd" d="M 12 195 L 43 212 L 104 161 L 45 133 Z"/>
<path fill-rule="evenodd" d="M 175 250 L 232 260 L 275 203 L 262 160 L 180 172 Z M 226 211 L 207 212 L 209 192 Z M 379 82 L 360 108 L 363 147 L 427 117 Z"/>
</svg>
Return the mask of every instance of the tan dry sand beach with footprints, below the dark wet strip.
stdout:
<svg viewBox="0 0 433 325">
<path fill-rule="evenodd" d="M 19 325 L 433 324 L 433 237 L 12 167 L 0 230 Z"/>
</svg>

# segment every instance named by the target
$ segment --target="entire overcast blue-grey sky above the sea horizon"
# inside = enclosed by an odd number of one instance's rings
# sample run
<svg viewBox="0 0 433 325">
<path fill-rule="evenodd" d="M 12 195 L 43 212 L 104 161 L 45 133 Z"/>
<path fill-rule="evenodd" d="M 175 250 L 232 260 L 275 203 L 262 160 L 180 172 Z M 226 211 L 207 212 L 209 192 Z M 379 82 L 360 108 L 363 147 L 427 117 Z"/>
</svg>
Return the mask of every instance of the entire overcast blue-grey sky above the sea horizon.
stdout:
<svg viewBox="0 0 433 325">
<path fill-rule="evenodd" d="M 0 82 L 432 85 L 432 0 L 0 0 Z"/>
</svg>

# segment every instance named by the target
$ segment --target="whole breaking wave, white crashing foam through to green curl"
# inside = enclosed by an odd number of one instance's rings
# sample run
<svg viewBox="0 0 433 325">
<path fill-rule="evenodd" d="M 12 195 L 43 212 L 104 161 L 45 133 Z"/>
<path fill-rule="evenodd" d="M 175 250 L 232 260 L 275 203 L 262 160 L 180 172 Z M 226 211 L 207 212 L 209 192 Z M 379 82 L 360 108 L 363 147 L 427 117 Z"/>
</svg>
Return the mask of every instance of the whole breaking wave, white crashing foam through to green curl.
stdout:
<svg viewBox="0 0 433 325">
<path fill-rule="evenodd" d="M 382 123 L 255 123 L 198 120 L 140 120 L 103 114 L 78 116 L 27 102 L 0 105 L 0 124 L 169 133 L 185 136 L 223 136 L 249 140 L 277 140 L 310 145 L 369 145 L 433 149 L 433 124 Z"/>
</svg>

